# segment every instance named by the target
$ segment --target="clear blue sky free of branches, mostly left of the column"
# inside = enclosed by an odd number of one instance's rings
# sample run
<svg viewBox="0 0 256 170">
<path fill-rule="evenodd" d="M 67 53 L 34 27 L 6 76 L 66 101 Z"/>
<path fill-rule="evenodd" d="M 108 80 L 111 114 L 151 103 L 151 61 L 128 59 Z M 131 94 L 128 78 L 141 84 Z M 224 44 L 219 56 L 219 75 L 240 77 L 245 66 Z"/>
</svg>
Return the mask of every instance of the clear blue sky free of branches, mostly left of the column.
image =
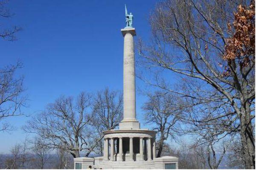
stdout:
<svg viewBox="0 0 256 170">
<path fill-rule="evenodd" d="M 24 68 L 24 85 L 33 115 L 47 103 L 64 94 L 76 96 L 81 91 L 94 92 L 109 87 L 122 91 L 123 37 L 126 3 L 134 14 L 137 35 L 148 38 L 148 15 L 155 0 L 10 0 L 8 8 L 15 13 L 8 26 L 23 28 L 18 40 L 0 40 L 0 67 L 20 59 Z M 2 21 L 0 21 L 2 22 Z M 3 21 L 6 23 L 6 21 Z M 136 38 L 135 38 L 136 39 Z M 142 87 L 143 82 L 137 81 Z M 145 98 L 137 94 L 137 117 Z M 0 153 L 20 142 L 26 134 L 20 127 L 29 118 L 8 119 L 17 130 L 0 133 Z"/>
</svg>

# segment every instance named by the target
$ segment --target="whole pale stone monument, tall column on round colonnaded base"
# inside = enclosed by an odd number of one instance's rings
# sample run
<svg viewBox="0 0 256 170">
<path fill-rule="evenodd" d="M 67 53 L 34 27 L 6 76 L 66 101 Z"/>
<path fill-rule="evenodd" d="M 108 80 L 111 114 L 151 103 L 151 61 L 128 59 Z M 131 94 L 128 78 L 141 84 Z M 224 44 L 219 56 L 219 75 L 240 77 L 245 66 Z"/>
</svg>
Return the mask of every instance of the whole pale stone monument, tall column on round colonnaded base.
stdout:
<svg viewBox="0 0 256 170">
<path fill-rule="evenodd" d="M 121 29 L 124 36 L 123 120 L 119 130 L 104 131 L 104 156 L 74 159 L 75 169 L 178 169 L 178 158 L 156 158 L 156 132 L 140 129 L 135 110 L 135 28 Z"/>
</svg>

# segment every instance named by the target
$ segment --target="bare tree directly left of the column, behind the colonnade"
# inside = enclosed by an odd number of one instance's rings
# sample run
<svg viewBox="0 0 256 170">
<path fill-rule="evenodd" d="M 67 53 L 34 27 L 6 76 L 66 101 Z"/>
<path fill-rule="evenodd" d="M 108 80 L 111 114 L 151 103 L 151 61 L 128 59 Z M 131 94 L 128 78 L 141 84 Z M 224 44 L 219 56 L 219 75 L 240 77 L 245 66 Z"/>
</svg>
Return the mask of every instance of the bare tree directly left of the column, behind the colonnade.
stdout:
<svg viewBox="0 0 256 170">
<path fill-rule="evenodd" d="M 111 91 L 105 88 L 104 91 L 98 91 L 93 100 L 93 119 L 92 125 L 96 130 L 95 140 L 98 143 L 98 152 L 103 152 L 103 131 L 111 130 L 119 125 L 122 120 L 123 99 L 122 94 L 117 91 Z"/>
</svg>

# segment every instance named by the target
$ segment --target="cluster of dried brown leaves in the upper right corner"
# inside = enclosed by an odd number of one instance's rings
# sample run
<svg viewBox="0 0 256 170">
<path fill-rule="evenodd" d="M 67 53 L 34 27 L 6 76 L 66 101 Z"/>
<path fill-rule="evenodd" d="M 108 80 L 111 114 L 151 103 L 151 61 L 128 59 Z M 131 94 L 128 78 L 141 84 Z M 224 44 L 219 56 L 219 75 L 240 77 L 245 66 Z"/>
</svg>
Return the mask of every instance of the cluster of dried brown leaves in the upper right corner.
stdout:
<svg viewBox="0 0 256 170">
<path fill-rule="evenodd" d="M 234 14 L 233 37 L 227 39 L 225 45 L 226 54 L 223 59 L 234 60 L 241 59 L 243 66 L 250 63 L 250 56 L 255 54 L 255 1 L 250 6 L 241 6 L 237 8 Z M 232 26 L 227 24 L 227 28 L 232 32 Z"/>
</svg>

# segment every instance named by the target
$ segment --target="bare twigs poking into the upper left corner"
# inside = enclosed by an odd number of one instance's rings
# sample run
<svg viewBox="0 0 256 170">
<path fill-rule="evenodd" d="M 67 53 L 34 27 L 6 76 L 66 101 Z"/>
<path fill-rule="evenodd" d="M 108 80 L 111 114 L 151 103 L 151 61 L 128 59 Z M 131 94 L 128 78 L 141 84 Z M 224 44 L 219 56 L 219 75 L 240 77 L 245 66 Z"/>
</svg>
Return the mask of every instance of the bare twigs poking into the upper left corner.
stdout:
<svg viewBox="0 0 256 170">
<path fill-rule="evenodd" d="M 13 16 L 13 14 L 10 13 L 10 11 L 5 7 L 6 3 L 8 3 L 9 0 L 1 0 L 0 1 L 0 17 L 3 18 L 10 18 Z M 21 27 L 13 26 L 13 28 L 4 28 L 0 31 L 0 37 L 8 40 L 8 41 L 14 41 L 16 40 L 15 33 L 21 30 Z"/>
</svg>

